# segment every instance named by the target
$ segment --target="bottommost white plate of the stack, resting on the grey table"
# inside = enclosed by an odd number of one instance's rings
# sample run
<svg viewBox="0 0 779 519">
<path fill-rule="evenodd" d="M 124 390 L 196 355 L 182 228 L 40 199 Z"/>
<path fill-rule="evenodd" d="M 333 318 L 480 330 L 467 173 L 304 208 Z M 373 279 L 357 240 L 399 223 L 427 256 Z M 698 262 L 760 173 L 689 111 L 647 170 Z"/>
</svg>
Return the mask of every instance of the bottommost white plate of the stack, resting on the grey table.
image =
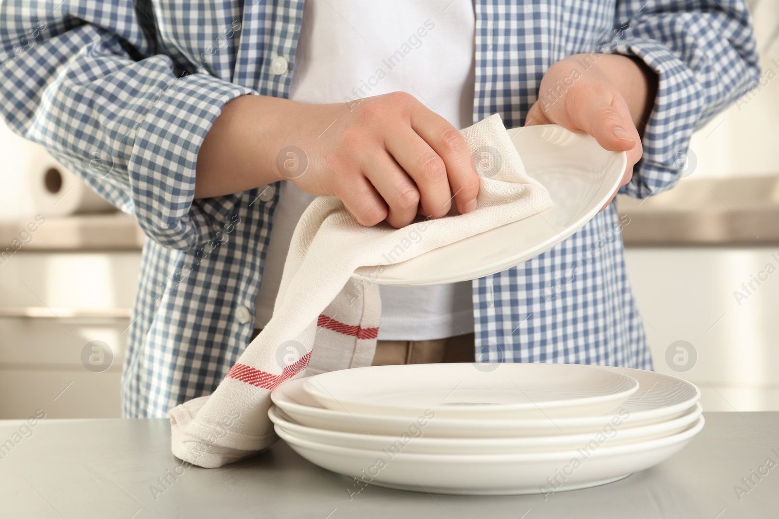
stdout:
<svg viewBox="0 0 779 519">
<path fill-rule="evenodd" d="M 315 465 L 371 485 L 415 492 L 508 495 L 581 489 L 622 479 L 670 458 L 702 429 L 700 416 L 682 433 L 657 440 L 534 454 L 389 452 L 319 444 L 280 428 L 277 433 Z M 553 478 L 562 483 L 559 488 L 549 483 Z M 354 492 L 359 489 L 355 482 Z"/>
</svg>

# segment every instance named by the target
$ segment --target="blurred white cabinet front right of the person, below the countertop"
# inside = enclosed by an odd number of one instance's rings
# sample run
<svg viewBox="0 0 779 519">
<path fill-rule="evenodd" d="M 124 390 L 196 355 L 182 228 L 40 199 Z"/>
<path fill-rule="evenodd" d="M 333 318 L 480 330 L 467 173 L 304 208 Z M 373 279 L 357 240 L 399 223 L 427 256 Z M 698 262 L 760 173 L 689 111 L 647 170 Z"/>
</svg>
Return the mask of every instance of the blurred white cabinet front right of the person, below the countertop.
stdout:
<svg viewBox="0 0 779 519">
<path fill-rule="evenodd" d="M 630 248 L 626 262 L 655 370 L 697 384 L 707 411 L 779 410 L 779 247 Z M 678 345 L 667 361 L 676 341 L 694 363 L 675 365 Z"/>
</svg>

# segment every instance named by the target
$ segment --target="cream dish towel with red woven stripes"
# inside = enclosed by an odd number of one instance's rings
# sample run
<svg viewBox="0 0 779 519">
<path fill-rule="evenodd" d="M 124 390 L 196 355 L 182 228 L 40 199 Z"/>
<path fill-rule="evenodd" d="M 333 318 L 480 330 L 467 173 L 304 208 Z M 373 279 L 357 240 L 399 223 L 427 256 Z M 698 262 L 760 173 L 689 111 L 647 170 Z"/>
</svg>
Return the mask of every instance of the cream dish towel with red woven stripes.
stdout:
<svg viewBox="0 0 779 519">
<path fill-rule="evenodd" d="M 369 366 L 379 333 L 379 286 L 354 269 L 405 261 L 552 206 L 524 170 L 498 114 L 462 130 L 480 174 L 477 207 L 402 229 L 361 226 L 334 196 L 309 205 L 294 230 L 273 317 L 210 396 L 171 409 L 172 451 L 213 468 L 270 447 L 270 391 L 291 378 Z M 454 204 L 453 204 L 454 205 Z"/>
</svg>

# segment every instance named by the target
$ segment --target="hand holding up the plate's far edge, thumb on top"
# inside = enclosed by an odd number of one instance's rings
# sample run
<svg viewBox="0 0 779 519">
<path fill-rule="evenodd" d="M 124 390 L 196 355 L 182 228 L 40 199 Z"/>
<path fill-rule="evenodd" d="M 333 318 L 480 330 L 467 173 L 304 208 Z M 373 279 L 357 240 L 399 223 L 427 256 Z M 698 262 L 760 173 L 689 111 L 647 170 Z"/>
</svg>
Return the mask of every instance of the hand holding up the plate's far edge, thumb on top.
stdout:
<svg viewBox="0 0 779 519">
<path fill-rule="evenodd" d="M 525 125 L 560 124 L 572 132 L 587 132 L 605 149 L 626 152 L 623 186 L 643 153 L 643 121 L 656 93 L 657 75 L 642 61 L 619 54 L 574 54 L 552 65 L 541 79 L 538 101 Z"/>
</svg>

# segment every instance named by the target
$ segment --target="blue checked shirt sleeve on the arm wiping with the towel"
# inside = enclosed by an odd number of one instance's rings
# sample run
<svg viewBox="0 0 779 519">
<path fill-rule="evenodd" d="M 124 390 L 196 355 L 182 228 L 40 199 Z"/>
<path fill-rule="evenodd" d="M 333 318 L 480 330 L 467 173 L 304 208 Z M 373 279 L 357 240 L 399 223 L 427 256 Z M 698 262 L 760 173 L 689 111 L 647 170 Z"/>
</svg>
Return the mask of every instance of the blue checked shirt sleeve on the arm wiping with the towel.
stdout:
<svg viewBox="0 0 779 519">
<path fill-rule="evenodd" d="M 220 225 L 192 203 L 199 147 L 253 91 L 155 54 L 152 17 L 143 0 L 0 3 L 0 111 L 152 240 L 189 250 Z"/>
</svg>

